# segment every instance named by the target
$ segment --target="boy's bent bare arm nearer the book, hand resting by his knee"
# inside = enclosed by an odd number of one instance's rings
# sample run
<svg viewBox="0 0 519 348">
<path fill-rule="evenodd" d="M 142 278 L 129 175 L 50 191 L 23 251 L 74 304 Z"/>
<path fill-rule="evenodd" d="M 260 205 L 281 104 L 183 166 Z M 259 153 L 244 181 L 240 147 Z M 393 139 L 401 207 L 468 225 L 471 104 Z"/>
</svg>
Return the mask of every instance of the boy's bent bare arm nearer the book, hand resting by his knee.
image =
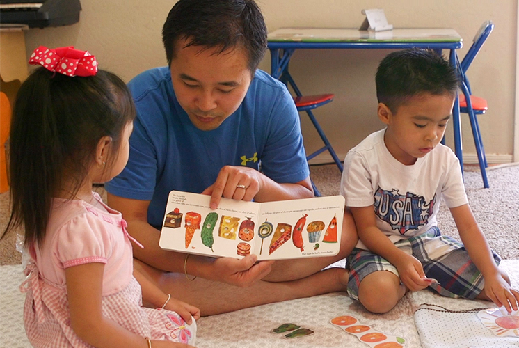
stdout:
<svg viewBox="0 0 519 348">
<path fill-rule="evenodd" d="M 390 239 L 376 226 L 373 205 L 369 207 L 350 207 L 357 226 L 358 237 L 370 251 L 381 255 L 397 267 L 400 279 L 411 291 L 422 290 L 430 285 L 424 279 L 422 264 L 394 246 Z"/>
</svg>

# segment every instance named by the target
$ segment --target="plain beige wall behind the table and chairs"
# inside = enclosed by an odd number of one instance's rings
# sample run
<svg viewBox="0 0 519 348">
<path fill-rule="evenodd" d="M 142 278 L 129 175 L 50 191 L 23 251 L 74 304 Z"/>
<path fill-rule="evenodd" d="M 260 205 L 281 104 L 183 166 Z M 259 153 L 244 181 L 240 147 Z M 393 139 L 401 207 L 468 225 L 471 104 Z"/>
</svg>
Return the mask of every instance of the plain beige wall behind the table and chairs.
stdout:
<svg viewBox="0 0 519 348">
<path fill-rule="evenodd" d="M 472 44 L 479 26 L 493 20 L 495 30 L 468 76 L 473 93 L 488 100 L 489 110 L 479 116 L 490 162 L 511 161 L 516 76 L 517 0 L 257 0 L 269 31 L 283 26 L 356 28 L 362 8 L 384 8 L 395 27 L 445 27 L 456 29 L 464 40 L 460 56 Z M 102 68 L 129 80 L 139 72 L 165 65 L 161 27 L 175 1 L 83 0 L 78 24 L 26 32 L 26 52 L 38 45 L 75 45 L 97 56 Z M 300 50 L 291 72 L 304 93 L 335 93 L 334 102 L 316 114 L 340 157 L 367 134 L 381 128 L 376 118 L 374 74 L 386 50 Z M 260 68 L 270 71 L 269 54 Z M 468 118 L 462 116 L 465 159 L 474 161 L 474 143 Z M 303 116 L 305 146 L 320 146 L 317 133 Z M 452 145 L 452 131 L 447 131 Z M 317 161 L 330 161 L 325 155 Z"/>
</svg>

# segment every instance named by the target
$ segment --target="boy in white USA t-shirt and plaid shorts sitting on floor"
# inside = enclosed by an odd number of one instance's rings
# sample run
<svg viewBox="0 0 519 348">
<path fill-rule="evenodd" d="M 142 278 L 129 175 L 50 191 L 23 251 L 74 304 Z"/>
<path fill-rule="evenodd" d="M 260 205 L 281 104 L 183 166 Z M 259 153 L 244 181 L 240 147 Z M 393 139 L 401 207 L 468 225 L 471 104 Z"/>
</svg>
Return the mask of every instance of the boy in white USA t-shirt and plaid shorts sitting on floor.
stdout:
<svg viewBox="0 0 519 348">
<path fill-rule="evenodd" d="M 341 180 L 360 238 L 347 258 L 348 293 L 371 312 L 388 312 L 408 290 L 426 287 L 518 309 L 519 292 L 468 205 L 459 161 L 440 143 L 458 86 L 456 70 L 431 50 L 393 52 L 378 66 L 386 127 L 349 151 Z M 440 196 L 463 244 L 438 230 Z"/>
</svg>

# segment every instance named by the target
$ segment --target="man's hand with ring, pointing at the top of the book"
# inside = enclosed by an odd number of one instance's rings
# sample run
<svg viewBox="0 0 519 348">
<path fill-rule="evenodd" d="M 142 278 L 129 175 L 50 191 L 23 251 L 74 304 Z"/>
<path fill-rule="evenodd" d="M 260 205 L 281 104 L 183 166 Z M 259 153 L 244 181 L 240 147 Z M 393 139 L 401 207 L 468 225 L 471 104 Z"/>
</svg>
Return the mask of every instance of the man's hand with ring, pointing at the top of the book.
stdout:
<svg viewBox="0 0 519 348">
<path fill-rule="evenodd" d="M 211 195 L 211 209 L 216 209 L 220 198 L 253 200 L 262 189 L 264 175 L 253 168 L 225 166 L 221 168 L 216 182 L 207 187 L 202 194 Z"/>
</svg>

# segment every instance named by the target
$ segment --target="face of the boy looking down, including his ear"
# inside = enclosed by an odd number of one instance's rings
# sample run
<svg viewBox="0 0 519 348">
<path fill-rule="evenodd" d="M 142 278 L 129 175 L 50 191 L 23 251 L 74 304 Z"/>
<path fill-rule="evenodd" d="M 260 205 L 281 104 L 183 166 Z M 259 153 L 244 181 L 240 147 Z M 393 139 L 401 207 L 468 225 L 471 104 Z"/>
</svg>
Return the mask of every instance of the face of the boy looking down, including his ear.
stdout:
<svg viewBox="0 0 519 348">
<path fill-rule="evenodd" d="M 396 113 L 378 104 L 378 117 L 388 125 L 384 142 L 391 155 L 410 166 L 431 152 L 443 138 L 453 104 L 452 95 L 429 93 L 411 97 Z"/>
</svg>

